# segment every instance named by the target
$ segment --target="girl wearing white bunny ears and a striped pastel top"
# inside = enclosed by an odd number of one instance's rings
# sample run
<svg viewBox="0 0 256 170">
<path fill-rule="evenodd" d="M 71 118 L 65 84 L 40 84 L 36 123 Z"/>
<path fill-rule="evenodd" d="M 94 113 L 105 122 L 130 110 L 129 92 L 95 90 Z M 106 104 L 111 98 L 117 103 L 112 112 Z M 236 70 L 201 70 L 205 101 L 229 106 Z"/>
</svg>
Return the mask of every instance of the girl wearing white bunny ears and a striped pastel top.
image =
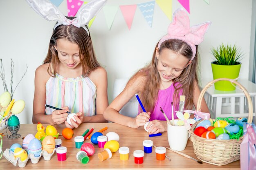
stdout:
<svg viewBox="0 0 256 170">
<path fill-rule="evenodd" d="M 51 2 L 26 0 L 48 21 L 57 21 L 43 65 L 36 69 L 33 123 L 61 124 L 77 128 L 81 123 L 106 122 L 107 73 L 96 59 L 87 27 L 106 0 L 84 4 L 77 17 L 65 17 Z M 97 103 L 97 104 L 96 104 Z M 61 108 L 45 108 L 45 104 Z M 72 125 L 67 111 L 76 113 Z"/>
</svg>

